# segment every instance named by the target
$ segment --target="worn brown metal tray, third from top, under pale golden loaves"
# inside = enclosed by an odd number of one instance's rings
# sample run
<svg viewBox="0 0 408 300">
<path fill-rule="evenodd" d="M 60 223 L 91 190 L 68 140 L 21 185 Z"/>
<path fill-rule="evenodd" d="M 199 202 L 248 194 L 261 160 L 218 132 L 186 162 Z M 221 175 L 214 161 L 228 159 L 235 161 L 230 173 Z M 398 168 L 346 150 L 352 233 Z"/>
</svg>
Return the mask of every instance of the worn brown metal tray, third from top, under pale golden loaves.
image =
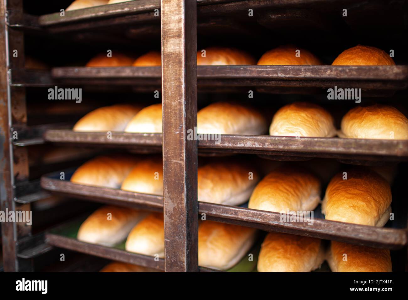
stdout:
<svg viewBox="0 0 408 300">
<path fill-rule="evenodd" d="M 113 132 L 112 138 L 107 139 L 104 132 L 49 129 L 44 132 L 43 138 L 47 142 L 104 145 L 139 151 L 160 151 L 162 147 L 161 133 Z M 273 160 L 288 160 L 288 156 L 336 158 L 365 165 L 408 160 L 408 140 L 222 135 L 219 144 L 198 141 L 198 149 L 201 154 L 252 153 Z"/>
</svg>

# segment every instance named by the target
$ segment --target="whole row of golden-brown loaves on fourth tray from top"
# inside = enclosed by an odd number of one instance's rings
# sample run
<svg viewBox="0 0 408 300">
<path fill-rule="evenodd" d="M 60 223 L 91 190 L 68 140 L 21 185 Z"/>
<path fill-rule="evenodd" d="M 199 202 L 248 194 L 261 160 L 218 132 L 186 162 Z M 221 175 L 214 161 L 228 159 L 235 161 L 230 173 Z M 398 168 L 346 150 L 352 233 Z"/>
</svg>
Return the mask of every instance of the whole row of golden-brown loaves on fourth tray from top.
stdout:
<svg viewBox="0 0 408 300">
<path fill-rule="evenodd" d="M 163 196 L 161 157 L 99 156 L 71 176 L 76 184 L 120 188 Z M 377 171 L 347 168 L 329 182 L 321 199 L 321 182 L 310 171 L 287 164 L 262 180 L 255 166 L 233 159 L 198 168 L 198 201 L 241 205 L 277 213 L 310 212 L 322 203 L 326 220 L 383 227 L 391 214 L 391 188 Z M 302 213 L 299 213 L 302 212 Z"/>
</svg>

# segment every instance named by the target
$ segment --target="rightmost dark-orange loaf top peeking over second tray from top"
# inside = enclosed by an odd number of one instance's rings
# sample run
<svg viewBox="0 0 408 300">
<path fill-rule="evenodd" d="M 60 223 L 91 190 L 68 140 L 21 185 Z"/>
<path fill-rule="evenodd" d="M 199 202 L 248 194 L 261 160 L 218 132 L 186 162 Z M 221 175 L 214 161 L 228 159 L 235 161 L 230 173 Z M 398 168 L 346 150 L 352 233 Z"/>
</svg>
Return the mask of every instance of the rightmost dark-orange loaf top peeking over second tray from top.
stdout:
<svg viewBox="0 0 408 300">
<path fill-rule="evenodd" d="M 361 46 L 344 50 L 332 63 L 333 66 L 394 66 L 395 62 L 381 49 Z"/>
</svg>

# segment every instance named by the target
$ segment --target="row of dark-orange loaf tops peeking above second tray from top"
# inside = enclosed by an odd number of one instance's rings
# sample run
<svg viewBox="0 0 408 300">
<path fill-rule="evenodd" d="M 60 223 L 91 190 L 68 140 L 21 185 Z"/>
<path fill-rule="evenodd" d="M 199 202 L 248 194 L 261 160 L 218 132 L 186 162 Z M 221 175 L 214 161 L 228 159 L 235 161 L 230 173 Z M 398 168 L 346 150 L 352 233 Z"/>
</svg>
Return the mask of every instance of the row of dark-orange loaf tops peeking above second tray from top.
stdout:
<svg viewBox="0 0 408 300">
<path fill-rule="evenodd" d="M 230 47 L 207 47 L 197 51 L 197 65 L 322 65 L 323 63 L 312 53 L 292 45 L 279 46 L 267 51 L 258 62 L 245 51 Z M 157 67 L 162 65 L 159 51 L 149 51 L 136 60 L 124 53 L 100 53 L 86 64 L 86 67 Z M 395 65 L 394 60 L 383 50 L 357 45 L 343 51 L 332 65 Z"/>
</svg>

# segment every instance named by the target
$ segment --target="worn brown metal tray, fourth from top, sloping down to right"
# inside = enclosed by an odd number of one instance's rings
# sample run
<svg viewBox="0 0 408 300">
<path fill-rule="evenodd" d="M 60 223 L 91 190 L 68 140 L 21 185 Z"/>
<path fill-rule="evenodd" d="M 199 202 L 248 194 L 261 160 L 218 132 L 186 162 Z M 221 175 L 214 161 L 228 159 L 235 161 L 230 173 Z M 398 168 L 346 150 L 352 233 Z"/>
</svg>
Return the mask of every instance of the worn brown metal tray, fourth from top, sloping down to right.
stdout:
<svg viewBox="0 0 408 300">
<path fill-rule="evenodd" d="M 72 170 L 66 171 L 65 180 L 59 179 L 59 172 L 44 175 L 41 178 L 41 187 L 64 196 L 95 202 L 149 210 L 162 211 L 163 209 L 162 196 L 75 184 L 69 181 L 71 173 Z M 399 195 L 401 194 L 399 193 Z M 392 202 L 395 221 L 388 222 L 386 227 L 324 220 L 320 207 L 317 207 L 314 211 L 314 222 L 312 225 L 308 225 L 306 221 L 281 222 L 281 215 L 279 213 L 248 209 L 245 207 L 246 204 L 241 207 L 235 207 L 199 202 L 198 211 L 200 216 L 202 213 L 205 213 L 207 220 L 253 227 L 264 231 L 278 231 L 369 247 L 400 249 L 408 244 L 408 231 L 406 228 L 408 216 L 404 213 L 406 212 L 404 201 L 398 200 L 402 199 L 394 199 Z"/>
</svg>

